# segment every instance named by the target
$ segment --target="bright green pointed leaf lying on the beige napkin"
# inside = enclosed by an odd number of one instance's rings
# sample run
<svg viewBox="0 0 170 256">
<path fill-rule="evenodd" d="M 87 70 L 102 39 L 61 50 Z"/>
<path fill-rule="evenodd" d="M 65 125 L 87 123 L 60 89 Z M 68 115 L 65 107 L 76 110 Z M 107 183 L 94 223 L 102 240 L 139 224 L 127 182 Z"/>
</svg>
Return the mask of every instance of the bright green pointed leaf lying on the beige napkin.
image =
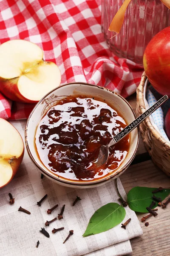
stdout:
<svg viewBox="0 0 170 256">
<path fill-rule="evenodd" d="M 118 225 L 124 218 L 125 209 L 116 203 L 105 204 L 91 217 L 83 236 L 91 236 L 109 230 Z"/>
</svg>

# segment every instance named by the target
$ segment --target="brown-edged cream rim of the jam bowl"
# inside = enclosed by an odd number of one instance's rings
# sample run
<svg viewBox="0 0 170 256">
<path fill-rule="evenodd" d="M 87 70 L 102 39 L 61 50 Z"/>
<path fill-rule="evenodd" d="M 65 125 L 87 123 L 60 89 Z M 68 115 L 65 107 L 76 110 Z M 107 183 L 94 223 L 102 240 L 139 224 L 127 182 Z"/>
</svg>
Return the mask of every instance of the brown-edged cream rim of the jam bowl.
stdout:
<svg viewBox="0 0 170 256">
<path fill-rule="evenodd" d="M 125 166 L 123 166 L 118 172 L 113 173 L 113 174 L 110 175 L 109 177 L 105 177 L 105 178 L 103 178 L 103 179 L 101 179 L 101 180 L 97 180 L 97 181 L 93 181 L 93 180 L 92 180 L 92 181 L 88 181 L 88 182 L 82 183 L 82 182 L 75 182 L 75 181 L 72 182 L 72 181 L 69 181 L 69 180 L 61 180 L 61 179 L 59 179 L 57 176 L 55 177 L 55 176 L 51 175 L 50 173 L 47 173 L 45 170 L 43 170 L 43 169 L 41 168 L 41 166 L 39 166 L 39 164 L 34 160 L 34 157 L 33 157 L 33 155 L 31 154 L 31 150 L 30 150 L 30 148 L 29 148 L 28 140 L 27 140 L 28 124 L 29 124 L 29 121 L 30 121 L 30 119 L 31 119 L 31 116 L 32 116 L 32 114 L 34 113 L 34 111 L 35 111 L 35 109 L 37 108 L 37 106 L 40 105 L 41 102 L 42 102 L 49 94 L 53 93 L 55 90 L 57 90 L 57 88 L 65 87 L 65 86 L 68 86 L 68 85 L 70 85 L 70 84 L 84 84 L 84 85 L 88 85 L 88 86 L 98 87 L 99 89 L 108 90 L 108 91 L 110 91 L 111 93 L 116 94 L 118 97 L 120 97 L 122 100 L 124 100 L 124 101 L 126 102 L 126 104 L 129 106 L 130 110 L 132 111 L 134 118 L 136 119 L 136 113 L 133 111 L 133 108 L 130 106 L 130 104 L 127 102 L 127 100 L 126 100 L 125 98 L 123 98 L 119 93 L 116 93 L 116 92 L 114 92 L 113 90 L 110 90 L 110 89 L 108 89 L 108 88 L 101 87 L 101 86 L 98 86 L 98 85 L 95 85 L 95 84 L 85 83 L 85 82 L 72 82 L 72 83 L 62 84 L 62 85 L 60 85 L 59 87 L 56 87 L 56 88 L 54 88 L 53 90 L 51 90 L 50 92 L 48 92 L 42 99 L 40 99 L 39 102 L 37 102 L 37 104 L 35 105 L 35 107 L 34 107 L 33 110 L 31 111 L 31 113 L 30 113 L 30 115 L 29 115 L 29 117 L 28 117 L 28 119 L 27 119 L 26 128 L 25 128 L 26 150 L 27 150 L 27 152 L 28 152 L 28 155 L 29 155 L 30 159 L 31 159 L 32 162 L 35 164 L 35 166 L 37 166 L 37 168 L 40 169 L 40 171 L 41 171 L 44 175 L 48 176 L 48 177 L 51 178 L 52 180 L 57 181 L 57 182 L 59 182 L 59 183 L 64 183 L 64 184 L 67 184 L 67 185 L 71 185 L 71 186 L 79 186 L 79 187 L 81 187 L 81 186 L 94 186 L 94 185 L 101 184 L 101 183 L 104 183 L 104 182 L 106 182 L 106 181 L 108 181 L 108 180 L 111 180 L 111 179 L 115 178 L 116 176 L 118 176 L 118 175 L 120 175 L 122 172 L 124 172 L 124 171 L 127 169 L 127 167 L 130 165 L 130 163 L 133 161 L 134 157 L 136 156 L 136 152 L 137 152 L 138 147 L 139 147 L 139 134 L 140 134 L 140 133 L 139 133 L 139 126 L 137 127 L 137 137 L 138 137 L 138 138 L 137 138 L 137 144 L 136 144 L 136 148 L 135 148 L 135 150 L 134 150 L 134 152 L 133 152 L 132 157 L 131 157 L 130 160 L 125 164 Z M 64 184 L 63 184 L 63 185 L 64 185 Z"/>
</svg>

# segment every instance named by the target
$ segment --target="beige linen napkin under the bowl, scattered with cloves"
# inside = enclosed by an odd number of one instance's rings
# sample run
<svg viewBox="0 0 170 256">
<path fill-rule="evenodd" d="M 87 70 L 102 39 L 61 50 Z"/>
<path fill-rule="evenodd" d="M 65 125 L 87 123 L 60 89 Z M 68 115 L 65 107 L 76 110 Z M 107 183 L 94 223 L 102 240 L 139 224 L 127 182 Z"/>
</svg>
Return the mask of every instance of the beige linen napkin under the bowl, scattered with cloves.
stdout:
<svg viewBox="0 0 170 256">
<path fill-rule="evenodd" d="M 11 122 L 24 138 L 25 121 Z M 125 191 L 118 179 L 119 190 L 126 197 Z M 8 193 L 15 198 L 15 204 L 9 205 Z M 41 207 L 37 201 L 45 195 Z M 78 195 L 82 198 L 74 207 L 73 201 Z M 114 182 L 93 189 L 72 189 L 59 186 L 47 177 L 40 179 L 40 171 L 34 166 L 25 152 L 23 163 L 15 178 L 8 186 L 0 189 L 0 254 L 5 256 L 17 255 L 50 255 L 50 256 L 118 256 L 131 252 L 129 239 L 142 235 L 142 229 L 135 212 L 126 207 L 126 221 L 131 218 L 126 230 L 121 224 L 94 236 L 82 237 L 88 222 L 94 212 L 103 205 L 116 202 L 118 195 Z M 59 204 L 51 215 L 47 209 Z M 62 220 L 57 220 L 45 227 L 45 221 L 49 221 L 60 212 L 65 204 L 65 212 Z M 28 209 L 31 215 L 18 212 L 19 207 Z M 124 222 L 122 221 L 122 223 Z M 50 238 L 43 236 L 39 230 L 45 227 Z M 53 228 L 64 227 L 55 234 Z M 69 230 L 74 230 L 74 235 L 63 244 Z M 37 241 L 40 245 L 36 248 Z M 96 251 L 97 250 L 97 251 Z M 96 252 L 94 252 L 96 251 Z"/>
</svg>

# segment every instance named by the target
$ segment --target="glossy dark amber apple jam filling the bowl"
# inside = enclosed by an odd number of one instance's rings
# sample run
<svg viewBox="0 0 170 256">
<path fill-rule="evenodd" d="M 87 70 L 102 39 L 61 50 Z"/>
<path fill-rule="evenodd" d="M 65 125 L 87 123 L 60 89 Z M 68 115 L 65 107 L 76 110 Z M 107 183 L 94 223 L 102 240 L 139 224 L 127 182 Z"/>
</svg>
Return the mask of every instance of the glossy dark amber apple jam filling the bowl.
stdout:
<svg viewBox="0 0 170 256">
<path fill-rule="evenodd" d="M 107 145 L 125 126 L 125 120 L 105 100 L 69 96 L 41 119 L 35 144 L 42 163 L 57 176 L 66 180 L 99 180 L 125 160 L 129 136 L 110 148 L 105 165 L 92 170 L 88 166 L 97 159 L 100 145 Z"/>
</svg>

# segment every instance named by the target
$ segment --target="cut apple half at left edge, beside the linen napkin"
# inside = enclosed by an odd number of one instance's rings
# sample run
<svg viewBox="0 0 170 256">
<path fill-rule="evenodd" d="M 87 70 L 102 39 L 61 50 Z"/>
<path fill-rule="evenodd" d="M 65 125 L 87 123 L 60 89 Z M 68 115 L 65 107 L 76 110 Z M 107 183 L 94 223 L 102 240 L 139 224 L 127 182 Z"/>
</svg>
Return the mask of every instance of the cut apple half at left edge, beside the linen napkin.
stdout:
<svg viewBox="0 0 170 256">
<path fill-rule="evenodd" d="M 23 160 L 24 144 L 19 132 L 0 118 L 0 188 L 14 177 Z"/>
</svg>

